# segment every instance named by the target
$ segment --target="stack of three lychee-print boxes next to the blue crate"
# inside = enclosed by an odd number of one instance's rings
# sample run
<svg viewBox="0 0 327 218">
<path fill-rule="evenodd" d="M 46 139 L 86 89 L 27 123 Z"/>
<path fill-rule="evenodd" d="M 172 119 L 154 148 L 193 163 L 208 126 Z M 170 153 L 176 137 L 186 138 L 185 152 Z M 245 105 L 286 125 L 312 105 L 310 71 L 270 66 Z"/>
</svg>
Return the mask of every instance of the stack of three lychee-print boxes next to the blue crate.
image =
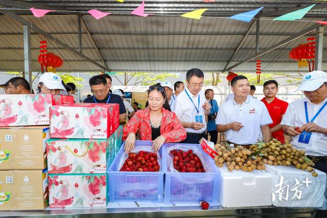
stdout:
<svg viewBox="0 0 327 218">
<path fill-rule="evenodd" d="M 106 207 L 106 170 L 115 156 L 118 127 L 118 104 L 50 108 L 50 208 Z"/>
</svg>

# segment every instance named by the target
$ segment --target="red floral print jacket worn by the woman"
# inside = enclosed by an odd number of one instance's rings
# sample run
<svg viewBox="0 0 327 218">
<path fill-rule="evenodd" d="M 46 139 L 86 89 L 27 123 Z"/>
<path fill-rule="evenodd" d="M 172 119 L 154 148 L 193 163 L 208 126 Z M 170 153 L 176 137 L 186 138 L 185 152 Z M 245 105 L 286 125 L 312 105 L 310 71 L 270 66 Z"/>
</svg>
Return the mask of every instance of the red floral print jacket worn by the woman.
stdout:
<svg viewBox="0 0 327 218">
<path fill-rule="evenodd" d="M 160 134 L 166 138 L 166 143 L 180 142 L 186 138 L 186 131 L 179 122 L 174 112 L 161 109 L 162 118 Z M 138 131 L 140 140 L 152 140 L 150 126 L 150 108 L 137 110 L 123 129 L 123 140 L 126 140 L 129 133 Z"/>
</svg>

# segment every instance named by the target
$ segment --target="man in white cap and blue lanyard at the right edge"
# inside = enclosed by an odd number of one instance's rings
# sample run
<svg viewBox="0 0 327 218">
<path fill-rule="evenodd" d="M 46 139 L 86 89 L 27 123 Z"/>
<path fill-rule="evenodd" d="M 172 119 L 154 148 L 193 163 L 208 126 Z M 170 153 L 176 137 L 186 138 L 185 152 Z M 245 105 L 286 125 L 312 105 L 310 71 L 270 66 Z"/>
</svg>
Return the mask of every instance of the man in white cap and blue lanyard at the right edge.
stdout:
<svg viewBox="0 0 327 218">
<path fill-rule="evenodd" d="M 303 76 L 297 88 L 306 98 L 289 104 L 282 120 L 292 144 L 306 150 L 315 168 L 327 173 L 327 74 L 316 70 Z"/>
</svg>

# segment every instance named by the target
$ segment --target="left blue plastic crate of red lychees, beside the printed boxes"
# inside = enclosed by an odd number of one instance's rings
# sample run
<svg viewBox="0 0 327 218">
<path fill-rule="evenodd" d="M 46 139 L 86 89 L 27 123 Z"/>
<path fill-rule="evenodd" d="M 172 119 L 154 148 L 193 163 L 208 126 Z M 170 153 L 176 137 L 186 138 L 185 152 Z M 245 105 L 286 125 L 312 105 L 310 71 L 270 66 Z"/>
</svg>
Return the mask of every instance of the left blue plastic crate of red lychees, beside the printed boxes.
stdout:
<svg viewBox="0 0 327 218">
<path fill-rule="evenodd" d="M 120 172 L 119 162 L 124 154 L 124 144 L 116 154 L 107 171 L 109 176 L 109 201 L 162 202 L 164 196 L 163 163 L 159 172 Z M 135 147 L 152 146 L 151 141 L 136 141 Z M 162 159 L 162 149 L 159 155 Z"/>
</svg>

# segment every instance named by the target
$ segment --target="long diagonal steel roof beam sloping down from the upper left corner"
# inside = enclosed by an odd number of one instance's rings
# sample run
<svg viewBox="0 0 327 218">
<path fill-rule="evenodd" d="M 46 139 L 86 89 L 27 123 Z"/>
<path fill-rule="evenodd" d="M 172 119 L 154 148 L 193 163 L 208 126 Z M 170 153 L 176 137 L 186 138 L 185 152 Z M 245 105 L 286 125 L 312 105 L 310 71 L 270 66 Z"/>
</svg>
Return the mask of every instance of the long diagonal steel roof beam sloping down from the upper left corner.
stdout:
<svg viewBox="0 0 327 218">
<path fill-rule="evenodd" d="M 0 5 L 1 6 L 1 5 Z M 100 67 L 101 69 L 105 69 L 107 71 L 110 71 L 110 69 L 108 67 L 105 67 L 101 64 L 99 64 L 98 62 L 88 58 L 87 56 L 83 55 L 82 53 L 80 53 L 79 51 L 76 51 L 74 48 L 72 48 L 71 46 L 67 45 L 66 43 L 62 42 L 61 40 L 59 40 L 58 38 L 52 36 L 51 34 L 41 30 L 40 28 L 36 27 L 36 25 L 34 25 L 32 22 L 25 20 L 24 18 L 18 16 L 17 14 L 11 12 L 11 11 L 6 11 L 6 10 L 0 10 L 1 13 L 8 15 L 9 17 L 19 21 L 20 23 L 22 23 L 23 25 L 27 25 L 30 28 L 32 28 L 35 32 L 38 32 L 42 35 L 44 35 L 46 38 L 56 42 L 58 45 L 65 47 L 67 50 L 73 52 L 74 54 L 76 54 L 77 56 L 83 58 L 86 61 L 89 61 L 93 64 L 95 64 L 96 66 Z"/>
</svg>

